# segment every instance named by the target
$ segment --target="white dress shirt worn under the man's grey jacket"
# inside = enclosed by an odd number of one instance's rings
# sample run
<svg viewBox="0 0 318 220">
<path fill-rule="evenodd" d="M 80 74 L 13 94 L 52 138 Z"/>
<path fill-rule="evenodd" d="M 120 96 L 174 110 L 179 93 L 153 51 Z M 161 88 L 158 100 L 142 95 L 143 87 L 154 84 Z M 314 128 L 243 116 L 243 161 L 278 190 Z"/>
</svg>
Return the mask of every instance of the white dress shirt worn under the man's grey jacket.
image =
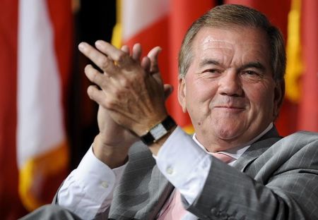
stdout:
<svg viewBox="0 0 318 220">
<path fill-rule="evenodd" d="M 273 123 L 240 149 L 223 153 L 235 158 L 236 161 L 252 142 L 272 127 Z M 195 135 L 191 138 L 177 127 L 154 158 L 163 175 L 179 190 L 187 202 L 192 204 L 203 189 L 211 168 L 213 157 L 210 153 L 196 140 Z M 229 165 L 232 166 L 235 161 Z M 93 219 L 96 214 L 105 212 L 112 202 L 114 188 L 125 166 L 110 169 L 95 157 L 90 147 L 78 168 L 69 174 L 61 186 L 58 192 L 59 205 L 76 213 L 82 219 Z M 196 219 L 196 216 L 188 212 L 183 219 Z"/>
</svg>

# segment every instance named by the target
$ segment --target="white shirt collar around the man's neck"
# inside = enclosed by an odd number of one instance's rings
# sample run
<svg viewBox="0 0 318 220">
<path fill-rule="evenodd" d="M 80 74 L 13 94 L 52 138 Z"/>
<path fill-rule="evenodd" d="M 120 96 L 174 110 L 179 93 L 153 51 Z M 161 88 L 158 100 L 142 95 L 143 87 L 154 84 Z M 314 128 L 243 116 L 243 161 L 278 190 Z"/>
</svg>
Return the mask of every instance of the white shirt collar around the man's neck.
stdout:
<svg viewBox="0 0 318 220">
<path fill-rule="evenodd" d="M 223 154 L 228 154 L 230 157 L 233 157 L 235 160 L 239 159 L 239 157 L 242 156 L 242 154 L 252 145 L 252 143 L 256 142 L 257 140 L 259 140 L 259 138 L 261 138 L 261 136 L 265 135 L 269 130 L 271 130 L 271 128 L 273 128 L 273 123 L 271 122 L 269 124 L 269 126 L 267 126 L 267 128 L 260 133 L 259 135 L 257 135 L 257 137 L 253 138 L 252 140 L 250 140 L 249 142 L 247 142 L 245 145 L 239 146 L 239 147 L 235 147 L 233 149 L 228 149 L 226 151 L 220 151 Z M 196 139 L 196 133 L 194 133 L 194 135 L 192 136 L 194 142 L 196 142 L 197 145 L 199 145 L 199 147 L 201 147 L 202 149 L 204 149 L 204 151 L 208 154 L 211 154 L 211 152 L 208 152 L 206 150 L 206 148 L 201 145 L 201 143 L 199 142 L 199 140 Z"/>
</svg>

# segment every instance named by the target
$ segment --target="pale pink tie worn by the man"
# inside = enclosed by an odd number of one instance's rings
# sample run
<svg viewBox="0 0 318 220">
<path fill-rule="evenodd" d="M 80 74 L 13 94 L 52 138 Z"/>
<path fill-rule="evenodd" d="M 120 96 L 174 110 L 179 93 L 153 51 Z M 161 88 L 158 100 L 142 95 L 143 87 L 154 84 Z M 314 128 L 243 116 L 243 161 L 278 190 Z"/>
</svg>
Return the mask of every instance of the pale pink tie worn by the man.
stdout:
<svg viewBox="0 0 318 220">
<path fill-rule="evenodd" d="M 233 158 L 228 156 L 227 154 L 217 152 L 212 153 L 212 155 L 213 157 L 216 157 L 227 164 L 233 161 Z M 184 209 L 182 205 L 179 190 L 176 189 L 174 193 L 175 195 L 173 195 L 171 202 L 166 202 L 163 206 L 163 214 L 160 214 L 158 220 L 182 219 L 182 216 L 184 216 L 187 213 L 187 210 Z"/>
</svg>

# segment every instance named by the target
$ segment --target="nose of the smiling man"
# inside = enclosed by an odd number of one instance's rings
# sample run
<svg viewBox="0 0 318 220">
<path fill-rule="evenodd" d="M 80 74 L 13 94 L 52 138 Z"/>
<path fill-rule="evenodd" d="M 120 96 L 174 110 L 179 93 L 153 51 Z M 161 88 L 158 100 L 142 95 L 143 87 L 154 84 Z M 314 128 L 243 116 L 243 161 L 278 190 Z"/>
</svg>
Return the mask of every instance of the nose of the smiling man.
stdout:
<svg viewBox="0 0 318 220">
<path fill-rule="evenodd" d="M 218 80 L 218 92 L 223 95 L 240 97 L 243 95 L 242 82 L 237 71 L 226 70 Z"/>
</svg>

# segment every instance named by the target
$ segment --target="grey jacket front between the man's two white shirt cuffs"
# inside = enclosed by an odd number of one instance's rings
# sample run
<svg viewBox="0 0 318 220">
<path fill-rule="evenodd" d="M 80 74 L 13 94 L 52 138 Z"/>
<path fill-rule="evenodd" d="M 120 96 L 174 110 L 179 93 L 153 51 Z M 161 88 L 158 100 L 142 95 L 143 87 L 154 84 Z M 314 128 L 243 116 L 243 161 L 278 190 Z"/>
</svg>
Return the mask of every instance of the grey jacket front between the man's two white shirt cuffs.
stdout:
<svg viewBox="0 0 318 220">
<path fill-rule="evenodd" d="M 171 183 L 160 173 L 148 147 L 131 147 L 129 163 L 110 207 L 110 219 L 155 219 L 173 190 Z"/>
</svg>

